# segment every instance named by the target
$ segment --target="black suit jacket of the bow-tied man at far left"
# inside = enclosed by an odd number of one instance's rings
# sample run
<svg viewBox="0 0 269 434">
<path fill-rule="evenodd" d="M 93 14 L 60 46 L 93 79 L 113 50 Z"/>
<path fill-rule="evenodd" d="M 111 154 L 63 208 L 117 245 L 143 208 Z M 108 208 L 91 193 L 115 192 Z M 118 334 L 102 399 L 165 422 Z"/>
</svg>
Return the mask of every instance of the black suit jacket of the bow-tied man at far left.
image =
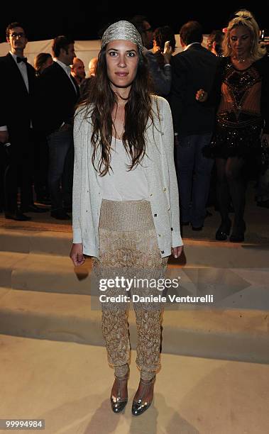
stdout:
<svg viewBox="0 0 269 434">
<path fill-rule="evenodd" d="M 28 134 L 35 112 L 35 69 L 26 67 L 29 91 L 11 54 L 0 57 L 0 126 L 7 126 L 11 143 Z"/>
</svg>

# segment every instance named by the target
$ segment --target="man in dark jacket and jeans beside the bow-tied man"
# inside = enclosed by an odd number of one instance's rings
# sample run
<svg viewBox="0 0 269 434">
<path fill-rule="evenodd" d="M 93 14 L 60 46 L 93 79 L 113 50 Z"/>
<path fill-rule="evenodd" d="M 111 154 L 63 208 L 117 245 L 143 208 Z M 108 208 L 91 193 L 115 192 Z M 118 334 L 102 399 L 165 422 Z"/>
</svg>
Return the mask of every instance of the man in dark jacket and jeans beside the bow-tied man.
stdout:
<svg viewBox="0 0 269 434">
<path fill-rule="evenodd" d="M 74 40 L 57 36 L 53 40 L 53 56 L 53 65 L 45 69 L 38 83 L 39 123 L 47 136 L 50 155 L 51 216 L 68 220 L 67 211 L 72 209 L 73 117 L 79 97 L 70 68 L 75 57 Z"/>
</svg>

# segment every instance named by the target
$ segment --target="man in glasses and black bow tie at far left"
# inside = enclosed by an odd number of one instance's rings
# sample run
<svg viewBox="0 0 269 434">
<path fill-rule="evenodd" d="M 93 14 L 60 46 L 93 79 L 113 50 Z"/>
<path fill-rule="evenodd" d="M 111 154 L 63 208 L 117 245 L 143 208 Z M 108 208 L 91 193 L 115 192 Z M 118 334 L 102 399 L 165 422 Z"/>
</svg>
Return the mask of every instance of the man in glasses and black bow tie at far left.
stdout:
<svg viewBox="0 0 269 434">
<path fill-rule="evenodd" d="M 26 221 L 31 218 L 23 212 L 43 211 L 33 204 L 32 191 L 35 69 L 23 57 L 28 41 L 20 23 L 9 24 L 6 40 L 11 50 L 0 57 L 0 145 L 11 145 L 5 147 L 4 211 L 6 218 Z M 21 209 L 17 205 L 18 185 Z"/>
</svg>

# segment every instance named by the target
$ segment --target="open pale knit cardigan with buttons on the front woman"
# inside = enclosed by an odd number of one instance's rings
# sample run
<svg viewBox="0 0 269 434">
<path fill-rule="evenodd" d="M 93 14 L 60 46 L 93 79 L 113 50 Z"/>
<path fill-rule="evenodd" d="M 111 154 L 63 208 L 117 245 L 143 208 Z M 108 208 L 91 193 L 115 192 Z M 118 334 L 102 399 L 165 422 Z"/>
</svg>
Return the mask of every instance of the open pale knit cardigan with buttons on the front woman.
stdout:
<svg viewBox="0 0 269 434">
<path fill-rule="evenodd" d="M 148 194 L 161 257 L 171 255 L 171 247 L 183 245 L 174 162 L 174 133 L 168 101 L 152 96 L 153 124 L 146 130 Z M 86 107 L 77 109 L 74 123 L 73 243 L 82 243 L 85 255 L 99 257 L 99 216 L 101 190 L 92 165 L 92 123 L 85 118 Z M 98 155 L 97 155 L 98 157 Z"/>
</svg>

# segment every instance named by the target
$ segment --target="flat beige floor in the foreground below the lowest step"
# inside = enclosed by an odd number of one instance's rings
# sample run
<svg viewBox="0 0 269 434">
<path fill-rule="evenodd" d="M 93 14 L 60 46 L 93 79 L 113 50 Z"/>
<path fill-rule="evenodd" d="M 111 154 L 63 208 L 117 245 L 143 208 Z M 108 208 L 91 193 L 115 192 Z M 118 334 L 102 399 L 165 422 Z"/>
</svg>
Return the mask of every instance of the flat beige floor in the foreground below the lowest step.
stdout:
<svg viewBox="0 0 269 434">
<path fill-rule="evenodd" d="M 46 434 L 268 434 L 269 365 L 163 355 L 153 404 L 135 418 L 135 357 L 115 415 L 104 347 L 0 335 L 0 418 L 45 419 L 31 432 Z"/>
</svg>

